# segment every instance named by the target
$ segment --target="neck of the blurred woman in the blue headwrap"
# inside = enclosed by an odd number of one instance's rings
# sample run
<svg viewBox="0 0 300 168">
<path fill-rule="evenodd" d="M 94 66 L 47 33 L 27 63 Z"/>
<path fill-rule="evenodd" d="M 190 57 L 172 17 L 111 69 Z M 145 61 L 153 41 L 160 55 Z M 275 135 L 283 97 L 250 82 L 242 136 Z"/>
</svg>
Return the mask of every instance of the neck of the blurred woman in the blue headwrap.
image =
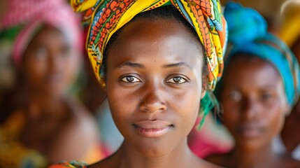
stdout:
<svg viewBox="0 0 300 168">
<path fill-rule="evenodd" d="M 229 155 L 231 167 L 272 167 L 273 161 L 278 158 L 272 151 L 271 143 L 255 149 L 237 145 Z"/>
</svg>

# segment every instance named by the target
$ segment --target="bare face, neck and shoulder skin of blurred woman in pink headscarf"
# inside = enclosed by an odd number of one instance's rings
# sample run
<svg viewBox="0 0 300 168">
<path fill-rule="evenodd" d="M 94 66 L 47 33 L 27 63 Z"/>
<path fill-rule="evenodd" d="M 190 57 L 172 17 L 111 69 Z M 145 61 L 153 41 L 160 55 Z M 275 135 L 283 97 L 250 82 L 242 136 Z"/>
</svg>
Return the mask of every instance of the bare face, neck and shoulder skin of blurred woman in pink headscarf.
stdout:
<svg viewBox="0 0 300 168">
<path fill-rule="evenodd" d="M 83 159 L 90 148 L 98 147 L 92 116 L 66 94 L 79 62 L 80 55 L 54 27 L 39 31 L 24 52 L 20 69 L 27 99 L 17 110 L 25 116 L 20 141 L 50 162 Z"/>
</svg>

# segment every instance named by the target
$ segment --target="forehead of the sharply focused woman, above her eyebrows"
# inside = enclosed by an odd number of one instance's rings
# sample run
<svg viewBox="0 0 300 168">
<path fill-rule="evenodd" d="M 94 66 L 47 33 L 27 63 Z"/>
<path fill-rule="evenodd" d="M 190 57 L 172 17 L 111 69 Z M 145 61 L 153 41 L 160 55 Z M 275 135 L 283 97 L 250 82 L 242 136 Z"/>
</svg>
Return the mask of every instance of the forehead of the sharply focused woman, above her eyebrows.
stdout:
<svg viewBox="0 0 300 168">
<path fill-rule="evenodd" d="M 191 36 L 192 34 L 178 22 L 136 20 L 122 29 L 117 42 L 111 46 L 108 57 L 121 55 L 125 58 L 135 55 L 131 59 L 138 60 L 143 56 L 160 55 L 164 59 L 178 62 L 188 61 L 193 57 L 202 60 L 203 50 L 199 47 L 201 44 L 191 41 Z M 119 56 L 119 59 L 122 57 Z"/>
</svg>

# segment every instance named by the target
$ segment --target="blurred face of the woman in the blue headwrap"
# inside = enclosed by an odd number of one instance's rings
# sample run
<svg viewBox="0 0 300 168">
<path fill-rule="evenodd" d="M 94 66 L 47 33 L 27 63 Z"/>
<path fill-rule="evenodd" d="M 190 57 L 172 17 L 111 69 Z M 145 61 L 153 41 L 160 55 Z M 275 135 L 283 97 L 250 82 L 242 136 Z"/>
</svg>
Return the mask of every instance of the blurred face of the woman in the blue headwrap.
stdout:
<svg viewBox="0 0 300 168">
<path fill-rule="evenodd" d="M 236 145 L 249 150 L 271 143 L 289 112 L 278 71 L 258 57 L 236 56 L 224 74 L 220 102 Z"/>
</svg>

